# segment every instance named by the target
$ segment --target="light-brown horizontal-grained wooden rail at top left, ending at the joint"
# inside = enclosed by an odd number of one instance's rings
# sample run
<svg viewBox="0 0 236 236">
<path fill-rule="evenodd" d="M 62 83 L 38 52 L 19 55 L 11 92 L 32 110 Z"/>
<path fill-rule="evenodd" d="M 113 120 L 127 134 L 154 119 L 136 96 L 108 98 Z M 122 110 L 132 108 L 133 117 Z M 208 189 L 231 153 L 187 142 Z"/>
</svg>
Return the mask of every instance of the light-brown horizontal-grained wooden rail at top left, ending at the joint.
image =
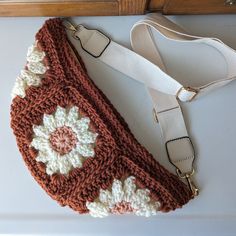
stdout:
<svg viewBox="0 0 236 236">
<path fill-rule="evenodd" d="M 1 2 L 0 16 L 118 15 L 117 1 Z"/>
</svg>

